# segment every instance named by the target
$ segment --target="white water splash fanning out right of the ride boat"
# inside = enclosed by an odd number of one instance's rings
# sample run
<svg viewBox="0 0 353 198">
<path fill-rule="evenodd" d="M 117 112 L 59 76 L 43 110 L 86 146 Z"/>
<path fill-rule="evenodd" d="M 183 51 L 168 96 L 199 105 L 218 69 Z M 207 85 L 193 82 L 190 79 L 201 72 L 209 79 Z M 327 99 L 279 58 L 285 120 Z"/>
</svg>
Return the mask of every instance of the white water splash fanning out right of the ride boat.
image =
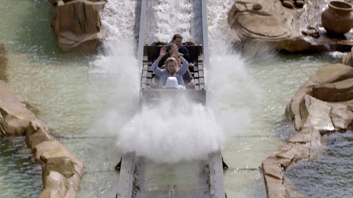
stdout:
<svg viewBox="0 0 353 198">
<path fill-rule="evenodd" d="M 224 135 L 235 136 L 253 123 L 254 109 L 261 108 L 262 90 L 239 54 L 221 44 L 212 51 L 210 67 L 205 68 L 207 104 Z"/>
</svg>

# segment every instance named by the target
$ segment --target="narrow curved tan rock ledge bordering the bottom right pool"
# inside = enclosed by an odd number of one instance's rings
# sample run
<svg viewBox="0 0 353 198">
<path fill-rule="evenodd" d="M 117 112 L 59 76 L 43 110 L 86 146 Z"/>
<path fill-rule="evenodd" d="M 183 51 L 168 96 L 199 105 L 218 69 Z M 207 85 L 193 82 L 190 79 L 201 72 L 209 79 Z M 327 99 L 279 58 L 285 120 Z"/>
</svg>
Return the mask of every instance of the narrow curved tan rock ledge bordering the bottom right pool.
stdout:
<svg viewBox="0 0 353 198">
<path fill-rule="evenodd" d="M 287 183 L 284 171 L 298 160 L 316 157 L 324 149 L 323 145 L 318 129 L 305 128 L 263 160 L 261 167 L 267 197 L 303 197 L 302 194 L 290 188 L 291 185 Z"/>
</svg>

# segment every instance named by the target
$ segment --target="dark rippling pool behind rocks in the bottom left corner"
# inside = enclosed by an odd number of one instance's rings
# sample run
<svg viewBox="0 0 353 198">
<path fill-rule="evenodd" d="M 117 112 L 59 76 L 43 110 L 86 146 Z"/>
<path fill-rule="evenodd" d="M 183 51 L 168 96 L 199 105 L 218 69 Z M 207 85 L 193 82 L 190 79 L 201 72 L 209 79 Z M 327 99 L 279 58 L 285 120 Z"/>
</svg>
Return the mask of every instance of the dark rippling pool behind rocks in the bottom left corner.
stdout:
<svg viewBox="0 0 353 198">
<path fill-rule="evenodd" d="M 25 137 L 0 137 L 1 197 L 38 197 L 42 192 L 42 167 L 34 165 Z"/>
</svg>

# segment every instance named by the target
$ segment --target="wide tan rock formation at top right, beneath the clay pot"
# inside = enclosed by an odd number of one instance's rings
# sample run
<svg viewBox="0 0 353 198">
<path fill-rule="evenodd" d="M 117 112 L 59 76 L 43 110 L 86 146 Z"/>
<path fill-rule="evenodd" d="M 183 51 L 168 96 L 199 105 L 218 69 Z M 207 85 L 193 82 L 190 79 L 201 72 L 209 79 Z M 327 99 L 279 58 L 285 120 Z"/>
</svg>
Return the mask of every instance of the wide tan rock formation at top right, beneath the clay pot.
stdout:
<svg viewBox="0 0 353 198">
<path fill-rule="evenodd" d="M 261 42 L 289 52 L 349 50 L 351 33 L 326 35 L 320 17 L 325 6 L 324 0 L 237 0 L 228 23 L 244 43 Z"/>
</svg>

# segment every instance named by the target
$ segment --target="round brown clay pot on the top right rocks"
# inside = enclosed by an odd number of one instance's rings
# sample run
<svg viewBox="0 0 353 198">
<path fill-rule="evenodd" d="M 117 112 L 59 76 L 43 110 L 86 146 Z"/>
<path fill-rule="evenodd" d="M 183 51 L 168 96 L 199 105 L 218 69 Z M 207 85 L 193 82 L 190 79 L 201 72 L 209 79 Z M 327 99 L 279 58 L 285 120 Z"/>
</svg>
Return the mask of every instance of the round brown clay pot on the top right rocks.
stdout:
<svg viewBox="0 0 353 198">
<path fill-rule="evenodd" d="M 353 5 L 344 1 L 332 0 L 321 13 L 321 22 L 327 33 L 344 34 L 353 26 Z"/>
</svg>

